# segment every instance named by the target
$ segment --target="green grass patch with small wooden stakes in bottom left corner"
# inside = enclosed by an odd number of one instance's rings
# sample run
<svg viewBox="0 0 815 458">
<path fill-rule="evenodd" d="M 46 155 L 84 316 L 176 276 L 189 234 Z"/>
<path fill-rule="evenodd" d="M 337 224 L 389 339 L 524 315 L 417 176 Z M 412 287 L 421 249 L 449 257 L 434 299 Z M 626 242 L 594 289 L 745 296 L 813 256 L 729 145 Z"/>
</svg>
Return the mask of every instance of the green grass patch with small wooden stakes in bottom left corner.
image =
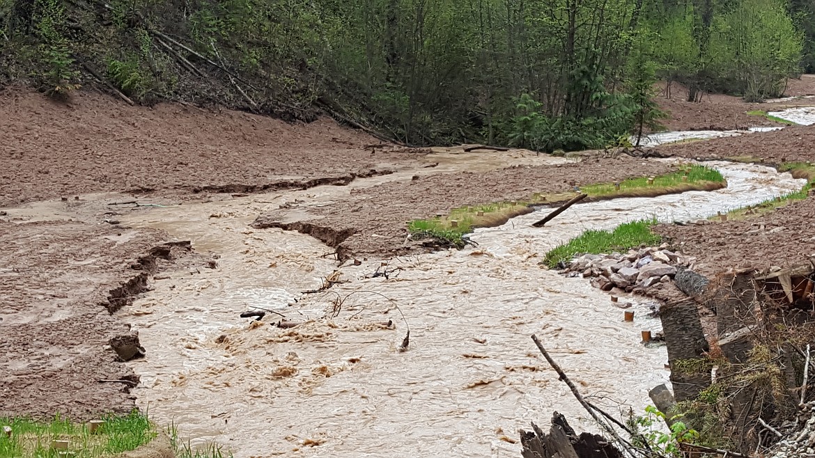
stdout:
<svg viewBox="0 0 815 458">
<path fill-rule="evenodd" d="M 68 451 L 73 458 L 114 456 L 156 438 L 156 429 L 148 417 L 136 410 L 126 416 L 104 416 L 101 420 L 104 424 L 91 434 L 88 425 L 60 416 L 51 421 L 0 418 L 0 429 L 11 427 L 11 436 L 0 433 L 0 458 L 60 458 L 60 451 Z M 55 447 L 54 441 L 68 441 L 67 450 Z"/>
</svg>

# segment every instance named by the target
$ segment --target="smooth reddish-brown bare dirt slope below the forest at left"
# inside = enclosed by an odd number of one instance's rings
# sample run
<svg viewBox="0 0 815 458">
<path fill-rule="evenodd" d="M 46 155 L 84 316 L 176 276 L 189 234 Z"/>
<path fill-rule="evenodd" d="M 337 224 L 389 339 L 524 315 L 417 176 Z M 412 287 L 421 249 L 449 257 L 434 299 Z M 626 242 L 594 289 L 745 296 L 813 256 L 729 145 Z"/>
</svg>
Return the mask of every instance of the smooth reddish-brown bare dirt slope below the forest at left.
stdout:
<svg viewBox="0 0 815 458">
<path fill-rule="evenodd" d="M 85 91 L 66 104 L 7 88 L 0 120 L 0 207 L 86 192 L 189 192 L 370 173 L 416 154 L 372 154 L 364 147 L 378 141 L 328 119 L 287 124 L 178 104 L 130 107 Z"/>
</svg>

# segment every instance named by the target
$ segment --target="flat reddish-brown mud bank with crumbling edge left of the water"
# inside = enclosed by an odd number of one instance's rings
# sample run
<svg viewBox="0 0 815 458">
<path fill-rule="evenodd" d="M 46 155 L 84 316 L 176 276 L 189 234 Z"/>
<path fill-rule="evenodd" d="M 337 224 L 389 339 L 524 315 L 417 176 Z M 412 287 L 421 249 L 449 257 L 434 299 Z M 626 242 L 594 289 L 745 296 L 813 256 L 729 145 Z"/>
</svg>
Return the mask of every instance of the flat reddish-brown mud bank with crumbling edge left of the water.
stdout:
<svg viewBox="0 0 815 458">
<path fill-rule="evenodd" d="M 146 291 L 175 249 L 161 231 L 40 217 L 51 221 L 0 218 L 0 416 L 129 412 L 132 383 L 99 382 L 138 381 L 108 347 L 128 331 L 108 310 Z"/>
</svg>

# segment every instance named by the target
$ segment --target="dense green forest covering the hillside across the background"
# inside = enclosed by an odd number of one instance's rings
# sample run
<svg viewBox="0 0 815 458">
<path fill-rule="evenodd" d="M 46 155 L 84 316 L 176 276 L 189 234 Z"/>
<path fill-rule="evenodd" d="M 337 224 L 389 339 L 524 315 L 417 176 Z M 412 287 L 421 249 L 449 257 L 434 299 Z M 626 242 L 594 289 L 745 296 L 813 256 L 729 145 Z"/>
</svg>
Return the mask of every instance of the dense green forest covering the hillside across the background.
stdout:
<svg viewBox="0 0 815 458">
<path fill-rule="evenodd" d="M 0 33 L 0 81 L 54 95 L 541 152 L 658 129 L 655 81 L 761 101 L 815 67 L 804 0 L 0 0 Z"/>
</svg>

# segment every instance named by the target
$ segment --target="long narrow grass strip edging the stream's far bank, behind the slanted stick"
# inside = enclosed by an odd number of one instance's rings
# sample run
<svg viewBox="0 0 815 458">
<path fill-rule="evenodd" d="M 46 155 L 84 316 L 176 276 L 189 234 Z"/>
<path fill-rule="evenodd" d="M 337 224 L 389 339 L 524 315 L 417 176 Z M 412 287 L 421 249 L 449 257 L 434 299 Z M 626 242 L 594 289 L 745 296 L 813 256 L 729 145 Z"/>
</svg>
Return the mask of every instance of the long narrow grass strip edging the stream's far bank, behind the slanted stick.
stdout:
<svg viewBox="0 0 815 458">
<path fill-rule="evenodd" d="M 587 200 L 613 199 L 617 197 L 652 197 L 686 191 L 712 191 L 725 187 L 725 178 L 718 170 L 704 165 L 682 166 L 676 172 L 654 177 L 654 183 L 648 183 L 648 177 L 628 178 L 619 183 L 596 183 L 579 187 L 580 192 L 588 194 Z M 448 244 L 463 248 L 465 241 L 461 238 L 476 227 L 496 227 L 507 222 L 509 218 L 531 213 L 530 205 L 559 204 L 575 197 L 573 192 L 551 194 L 533 194 L 528 200 L 513 202 L 496 202 L 487 205 L 475 205 L 452 209 L 448 215 L 437 215 L 435 218 L 415 219 L 408 223 L 407 230 L 412 238 L 421 240 L 435 238 L 446 240 Z"/>
</svg>

